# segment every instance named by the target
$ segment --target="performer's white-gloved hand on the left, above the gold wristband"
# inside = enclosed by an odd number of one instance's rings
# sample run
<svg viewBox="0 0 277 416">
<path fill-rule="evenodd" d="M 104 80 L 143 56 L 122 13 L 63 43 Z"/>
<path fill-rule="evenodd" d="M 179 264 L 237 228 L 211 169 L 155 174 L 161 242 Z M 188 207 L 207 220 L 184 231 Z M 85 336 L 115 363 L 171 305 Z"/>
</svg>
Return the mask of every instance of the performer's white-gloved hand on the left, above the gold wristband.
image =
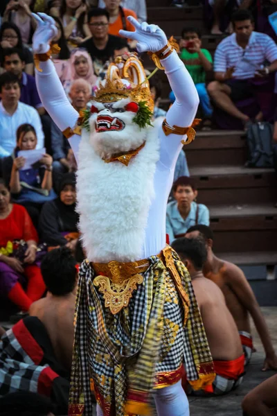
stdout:
<svg viewBox="0 0 277 416">
<path fill-rule="evenodd" d="M 45 13 L 32 13 L 37 21 L 37 28 L 33 35 L 34 53 L 46 53 L 50 49 L 51 40 L 57 35 L 55 20 Z"/>
</svg>

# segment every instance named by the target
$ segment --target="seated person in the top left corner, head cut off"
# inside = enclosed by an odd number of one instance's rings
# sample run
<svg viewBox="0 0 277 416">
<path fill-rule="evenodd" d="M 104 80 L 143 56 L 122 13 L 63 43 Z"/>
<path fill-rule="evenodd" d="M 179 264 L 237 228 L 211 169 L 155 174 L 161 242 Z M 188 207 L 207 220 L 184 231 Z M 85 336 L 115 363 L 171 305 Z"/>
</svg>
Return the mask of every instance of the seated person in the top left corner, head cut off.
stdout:
<svg viewBox="0 0 277 416">
<path fill-rule="evenodd" d="M 21 33 L 25 44 L 32 43 L 33 33 L 37 26 L 32 15 L 35 0 L 10 0 L 3 15 L 3 21 L 12 21 Z"/>
</svg>

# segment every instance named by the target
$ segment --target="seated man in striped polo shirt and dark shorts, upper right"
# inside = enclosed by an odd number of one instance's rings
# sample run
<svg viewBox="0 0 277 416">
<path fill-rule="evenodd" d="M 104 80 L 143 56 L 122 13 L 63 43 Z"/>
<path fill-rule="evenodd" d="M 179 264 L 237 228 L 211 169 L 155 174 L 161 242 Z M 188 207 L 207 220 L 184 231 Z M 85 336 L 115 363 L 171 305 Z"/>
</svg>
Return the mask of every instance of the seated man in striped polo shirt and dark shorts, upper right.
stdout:
<svg viewBox="0 0 277 416">
<path fill-rule="evenodd" d="M 253 17 L 248 10 L 238 10 L 232 17 L 234 33 L 226 37 L 215 51 L 215 81 L 208 93 L 217 107 L 240 119 L 249 116 L 235 107 L 235 102 L 253 95 L 253 78 L 265 78 L 277 70 L 277 46 L 263 33 L 253 31 Z M 256 115 L 256 120 L 262 113 Z"/>
</svg>

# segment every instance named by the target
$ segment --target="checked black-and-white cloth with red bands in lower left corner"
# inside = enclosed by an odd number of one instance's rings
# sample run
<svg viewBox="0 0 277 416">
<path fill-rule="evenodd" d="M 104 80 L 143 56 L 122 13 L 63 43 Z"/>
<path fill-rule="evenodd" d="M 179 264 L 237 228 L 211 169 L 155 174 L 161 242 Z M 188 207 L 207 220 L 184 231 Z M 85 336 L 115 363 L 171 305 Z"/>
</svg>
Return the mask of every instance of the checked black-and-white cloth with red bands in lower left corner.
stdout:
<svg viewBox="0 0 277 416">
<path fill-rule="evenodd" d="M 5 415 L 1 411 L 9 407 L 9 416 L 48 416 L 38 404 L 39 394 L 43 395 L 42 399 L 51 399 L 56 416 L 67 415 L 69 372 L 56 360 L 44 324 L 35 316 L 28 316 L 6 331 L 1 341 L 0 395 L 4 397 L 0 399 L 0 415 Z M 14 394 L 12 404 L 8 400 L 9 393 Z M 39 408 L 42 413 L 38 413 Z"/>
</svg>

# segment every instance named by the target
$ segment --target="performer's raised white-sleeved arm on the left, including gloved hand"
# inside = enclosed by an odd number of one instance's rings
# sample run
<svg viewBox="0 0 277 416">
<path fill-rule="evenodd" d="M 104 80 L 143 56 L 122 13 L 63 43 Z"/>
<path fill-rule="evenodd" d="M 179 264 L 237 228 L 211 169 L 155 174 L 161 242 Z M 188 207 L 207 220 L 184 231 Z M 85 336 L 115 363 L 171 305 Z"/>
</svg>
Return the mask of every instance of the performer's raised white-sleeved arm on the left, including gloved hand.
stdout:
<svg viewBox="0 0 277 416">
<path fill-rule="evenodd" d="M 63 132 L 67 128 L 74 128 L 79 114 L 69 103 L 54 64 L 49 59 L 51 40 L 57 33 L 55 20 L 45 13 L 38 13 L 38 15 L 33 13 L 33 17 L 37 21 L 37 29 L 33 35 L 35 62 L 39 65 L 35 69 L 37 90 L 44 108 Z M 70 139 L 75 154 L 78 150 L 79 141 L 80 136 L 77 135 L 73 135 Z"/>
</svg>

